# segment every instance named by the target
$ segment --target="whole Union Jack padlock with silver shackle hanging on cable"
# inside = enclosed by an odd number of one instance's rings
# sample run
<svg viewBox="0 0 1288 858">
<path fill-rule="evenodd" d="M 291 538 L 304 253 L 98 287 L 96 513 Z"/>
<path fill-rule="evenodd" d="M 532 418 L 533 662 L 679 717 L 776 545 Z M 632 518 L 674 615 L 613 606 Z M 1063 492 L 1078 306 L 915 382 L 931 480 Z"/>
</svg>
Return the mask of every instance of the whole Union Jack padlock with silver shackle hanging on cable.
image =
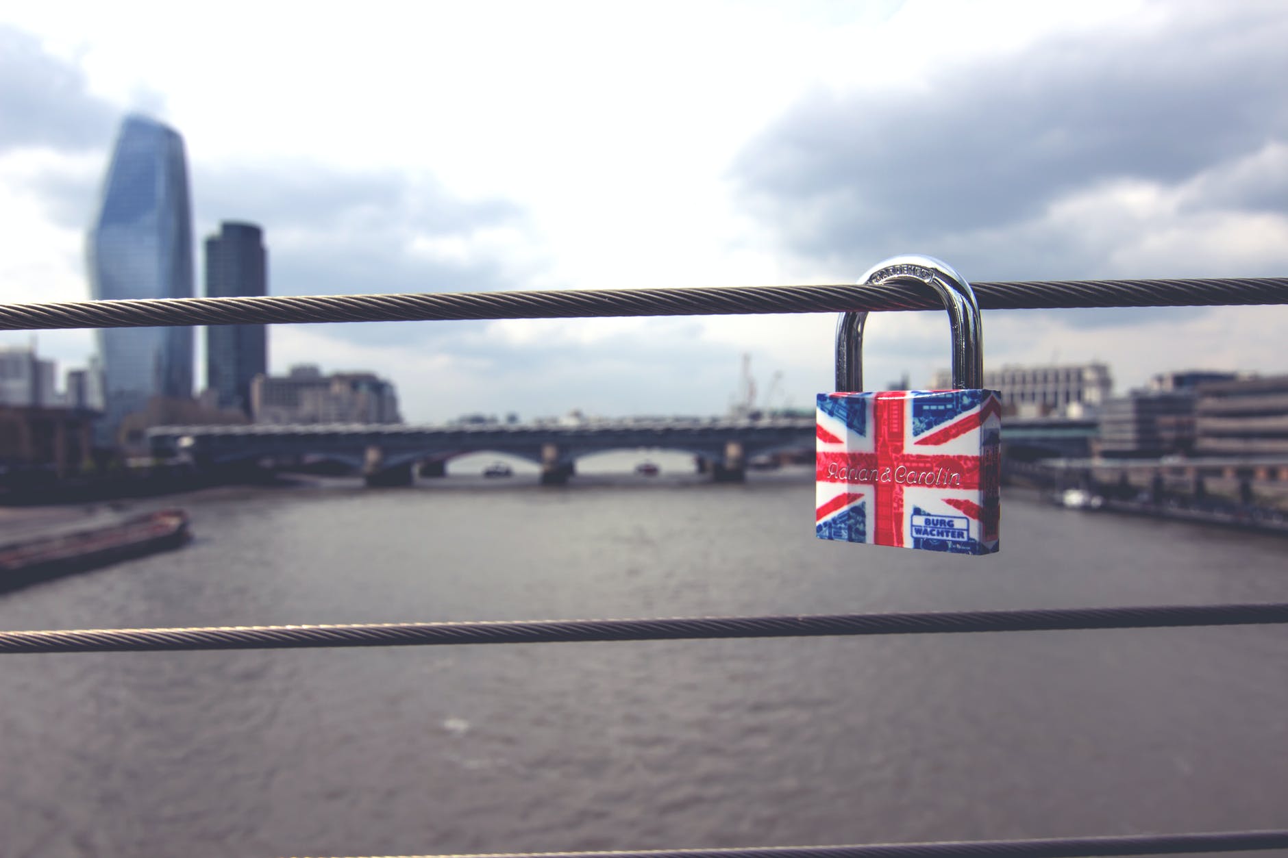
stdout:
<svg viewBox="0 0 1288 858">
<path fill-rule="evenodd" d="M 895 256 L 863 285 L 930 286 L 952 321 L 953 389 L 863 389 L 866 312 L 841 316 L 837 393 L 818 394 L 819 539 L 992 554 L 998 549 L 1002 405 L 984 390 L 979 304 L 970 283 L 930 256 Z"/>
</svg>

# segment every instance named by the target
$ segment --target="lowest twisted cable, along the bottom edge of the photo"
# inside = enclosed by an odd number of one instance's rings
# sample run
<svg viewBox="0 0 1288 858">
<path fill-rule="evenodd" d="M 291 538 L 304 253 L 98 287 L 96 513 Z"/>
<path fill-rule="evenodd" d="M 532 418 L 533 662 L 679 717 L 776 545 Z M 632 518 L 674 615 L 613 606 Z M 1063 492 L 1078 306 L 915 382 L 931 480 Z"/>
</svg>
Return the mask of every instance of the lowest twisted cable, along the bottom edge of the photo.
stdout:
<svg viewBox="0 0 1288 858">
<path fill-rule="evenodd" d="M 542 852 L 475 855 L 385 855 L 384 858 L 1074 858 L 1075 855 L 1166 855 L 1197 852 L 1288 849 L 1288 831 L 1221 831 L 1118 837 L 891 843 L 866 846 L 762 846 L 755 849 L 665 849 L 652 852 Z M 374 858 L 374 857 L 372 857 Z"/>
</svg>

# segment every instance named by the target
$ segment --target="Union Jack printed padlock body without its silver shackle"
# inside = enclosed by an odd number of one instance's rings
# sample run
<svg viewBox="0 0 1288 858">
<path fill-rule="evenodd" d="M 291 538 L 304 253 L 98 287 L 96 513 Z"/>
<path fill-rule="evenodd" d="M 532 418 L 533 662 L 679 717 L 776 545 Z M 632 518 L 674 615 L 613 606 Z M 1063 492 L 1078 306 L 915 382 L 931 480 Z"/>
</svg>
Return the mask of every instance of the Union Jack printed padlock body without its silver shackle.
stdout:
<svg viewBox="0 0 1288 858">
<path fill-rule="evenodd" d="M 1002 405 L 996 390 L 818 394 L 819 539 L 998 550 Z"/>
</svg>

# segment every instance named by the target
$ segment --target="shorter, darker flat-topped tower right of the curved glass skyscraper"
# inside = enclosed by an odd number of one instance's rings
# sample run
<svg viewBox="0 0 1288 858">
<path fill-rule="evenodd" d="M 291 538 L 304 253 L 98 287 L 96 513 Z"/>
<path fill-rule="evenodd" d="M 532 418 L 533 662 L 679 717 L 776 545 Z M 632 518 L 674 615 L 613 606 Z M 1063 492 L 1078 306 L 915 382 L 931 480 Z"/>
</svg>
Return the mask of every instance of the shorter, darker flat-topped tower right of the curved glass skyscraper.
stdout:
<svg viewBox="0 0 1288 858">
<path fill-rule="evenodd" d="M 219 224 L 206 238 L 206 296 L 267 295 L 268 254 L 264 233 L 250 223 Z M 218 393 L 220 408 L 250 415 L 250 383 L 268 372 L 268 335 L 263 325 L 220 325 L 206 329 L 206 386 Z"/>
</svg>

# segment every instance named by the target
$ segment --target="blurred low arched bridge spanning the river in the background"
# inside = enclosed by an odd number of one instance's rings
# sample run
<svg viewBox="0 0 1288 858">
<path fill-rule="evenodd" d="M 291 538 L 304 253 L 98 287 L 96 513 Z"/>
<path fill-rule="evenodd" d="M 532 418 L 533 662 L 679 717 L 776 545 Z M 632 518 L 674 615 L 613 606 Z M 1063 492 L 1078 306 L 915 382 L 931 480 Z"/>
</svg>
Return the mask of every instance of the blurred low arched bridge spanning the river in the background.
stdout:
<svg viewBox="0 0 1288 858">
<path fill-rule="evenodd" d="M 157 426 L 153 455 L 184 457 L 198 469 L 270 459 L 321 456 L 361 469 L 368 486 L 411 484 L 446 474 L 447 461 L 474 452 L 506 453 L 541 468 L 541 482 L 562 484 L 581 456 L 654 447 L 693 453 L 716 482 L 746 477 L 755 456 L 814 447 L 813 417 L 622 419 L 578 423 L 452 425 L 224 425 Z"/>
</svg>

